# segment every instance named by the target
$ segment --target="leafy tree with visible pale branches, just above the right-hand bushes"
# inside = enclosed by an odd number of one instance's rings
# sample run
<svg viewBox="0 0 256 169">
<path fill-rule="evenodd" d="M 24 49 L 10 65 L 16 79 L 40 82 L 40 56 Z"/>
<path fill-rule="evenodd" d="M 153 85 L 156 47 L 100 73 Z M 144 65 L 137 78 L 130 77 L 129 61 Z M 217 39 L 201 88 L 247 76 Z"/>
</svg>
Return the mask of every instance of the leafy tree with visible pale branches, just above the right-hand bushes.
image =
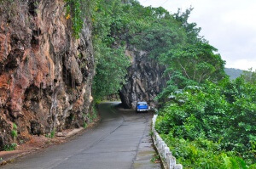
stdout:
<svg viewBox="0 0 256 169">
<path fill-rule="evenodd" d="M 160 56 L 167 65 L 167 72 L 180 72 L 188 80 L 202 83 L 206 80 L 217 82 L 224 77 L 224 60 L 217 49 L 207 42 L 197 42 L 182 48 L 172 49 Z"/>
</svg>

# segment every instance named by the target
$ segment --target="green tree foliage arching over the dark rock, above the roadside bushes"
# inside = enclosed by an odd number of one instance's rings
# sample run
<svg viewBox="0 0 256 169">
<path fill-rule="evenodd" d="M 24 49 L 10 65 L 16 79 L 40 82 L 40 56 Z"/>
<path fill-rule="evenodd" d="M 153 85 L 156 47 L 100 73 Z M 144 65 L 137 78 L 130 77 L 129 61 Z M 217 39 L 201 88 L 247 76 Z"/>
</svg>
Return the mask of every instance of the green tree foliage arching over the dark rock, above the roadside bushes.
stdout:
<svg viewBox="0 0 256 169">
<path fill-rule="evenodd" d="M 201 29 L 188 23 L 191 10 L 170 14 L 165 8 L 143 7 L 135 0 L 94 1 L 90 11 L 98 64 L 95 97 L 118 92 L 129 66 L 125 50 L 135 48 L 166 65 L 166 74 L 179 74 L 176 81 L 181 76 L 195 82 L 221 79 L 224 61 L 199 36 Z"/>
</svg>

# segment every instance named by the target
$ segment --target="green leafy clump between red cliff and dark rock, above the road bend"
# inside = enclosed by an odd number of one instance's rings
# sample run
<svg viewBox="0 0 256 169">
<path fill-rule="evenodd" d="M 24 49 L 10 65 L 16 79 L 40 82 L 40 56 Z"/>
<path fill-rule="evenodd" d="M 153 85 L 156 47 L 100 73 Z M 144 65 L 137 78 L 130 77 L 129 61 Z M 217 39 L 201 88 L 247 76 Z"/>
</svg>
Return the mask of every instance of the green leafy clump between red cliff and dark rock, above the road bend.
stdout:
<svg viewBox="0 0 256 169">
<path fill-rule="evenodd" d="M 93 83 L 93 94 L 96 99 L 117 93 L 125 83 L 126 69 L 130 65 L 123 48 L 102 46 L 101 49 L 103 55 L 98 59 Z"/>
</svg>

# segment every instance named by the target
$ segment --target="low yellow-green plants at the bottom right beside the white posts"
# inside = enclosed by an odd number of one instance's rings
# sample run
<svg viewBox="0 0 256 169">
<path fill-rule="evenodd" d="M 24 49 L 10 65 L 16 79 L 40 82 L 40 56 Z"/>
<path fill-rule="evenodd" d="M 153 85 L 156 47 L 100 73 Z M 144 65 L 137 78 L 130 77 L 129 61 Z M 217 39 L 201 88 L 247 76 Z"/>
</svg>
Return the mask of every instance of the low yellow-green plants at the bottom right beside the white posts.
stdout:
<svg viewBox="0 0 256 169">
<path fill-rule="evenodd" d="M 210 140 L 198 138 L 194 141 L 183 138 L 173 138 L 171 135 L 162 135 L 172 154 L 177 157 L 178 163 L 184 168 L 197 169 L 248 169 L 248 166 L 235 152 L 220 149 L 220 144 Z"/>
</svg>

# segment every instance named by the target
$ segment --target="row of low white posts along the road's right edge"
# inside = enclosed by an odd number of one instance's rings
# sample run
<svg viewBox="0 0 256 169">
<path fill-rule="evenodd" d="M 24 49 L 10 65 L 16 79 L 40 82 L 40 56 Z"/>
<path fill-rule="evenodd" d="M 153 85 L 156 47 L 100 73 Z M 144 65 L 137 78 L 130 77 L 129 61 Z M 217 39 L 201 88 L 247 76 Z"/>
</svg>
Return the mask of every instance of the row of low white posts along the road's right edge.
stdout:
<svg viewBox="0 0 256 169">
<path fill-rule="evenodd" d="M 154 124 L 155 124 L 156 118 L 157 118 L 157 115 L 154 115 L 152 119 L 152 132 L 153 132 L 152 138 L 154 141 L 154 146 L 160 155 L 160 159 L 162 161 L 164 168 L 165 169 L 183 169 L 183 166 L 181 164 L 176 164 L 176 158 L 172 156 L 172 152 L 170 151 L 169 147 L 166 145 L 163 139 L 160 138 L 159 133 L 155 131 Z"/>
</svg>

